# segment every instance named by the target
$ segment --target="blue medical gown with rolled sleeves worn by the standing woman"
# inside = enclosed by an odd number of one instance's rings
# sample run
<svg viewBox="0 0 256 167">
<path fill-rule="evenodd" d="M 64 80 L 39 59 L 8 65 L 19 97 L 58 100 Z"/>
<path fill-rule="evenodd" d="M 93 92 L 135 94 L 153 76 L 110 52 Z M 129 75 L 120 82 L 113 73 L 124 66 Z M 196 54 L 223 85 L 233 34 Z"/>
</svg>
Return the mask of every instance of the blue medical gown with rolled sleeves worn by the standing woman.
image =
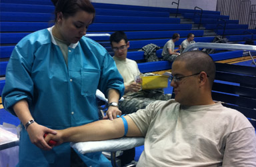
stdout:
<svg viewBox="0 0 256 167">
<path fill-rule="evenodd" d="M 115 88 L 123 96 L 123 79 L 106 49 L 83 37 L 69 46 L 66 65 L 51 33 L 43 29 L 27 35 L 13 50 L 2 98 L 12 114 L 13 104 L 26 99 L 38 124 L 63 129 L 99 119 L 97 88 L 104 94 Z M 95 161 L 87 160 L 87 166 L 101 166 L 101 154 L 88 157 Z M 31 144 L 26 130 L 21 130 L 19 166 L 70 166 L 69 161 L 69 143 L 44 151 Z"/>
</svg>

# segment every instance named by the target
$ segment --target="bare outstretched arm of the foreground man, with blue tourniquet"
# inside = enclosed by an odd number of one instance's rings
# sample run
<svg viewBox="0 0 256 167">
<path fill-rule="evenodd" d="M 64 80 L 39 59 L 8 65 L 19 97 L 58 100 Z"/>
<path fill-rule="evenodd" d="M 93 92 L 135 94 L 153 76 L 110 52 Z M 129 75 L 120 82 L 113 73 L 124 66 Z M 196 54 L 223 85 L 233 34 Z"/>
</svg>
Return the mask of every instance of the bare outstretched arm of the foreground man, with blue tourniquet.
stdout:
<svg viewBox="0 0 256 167">
<path fill-rule="evenodd" d="M 126 136 L 142 136 L 139 128 L 129 116 L 124 116 L 128 124 Z M 83 126 L 57 130 L 57 134 L 48 134 L 45 141 L 57 141 L 57 145 L 63 142 L 99 141 L 123 137 L 125 128 L 122 118 L 115 120 L 98 120 Z"/>
</svg>

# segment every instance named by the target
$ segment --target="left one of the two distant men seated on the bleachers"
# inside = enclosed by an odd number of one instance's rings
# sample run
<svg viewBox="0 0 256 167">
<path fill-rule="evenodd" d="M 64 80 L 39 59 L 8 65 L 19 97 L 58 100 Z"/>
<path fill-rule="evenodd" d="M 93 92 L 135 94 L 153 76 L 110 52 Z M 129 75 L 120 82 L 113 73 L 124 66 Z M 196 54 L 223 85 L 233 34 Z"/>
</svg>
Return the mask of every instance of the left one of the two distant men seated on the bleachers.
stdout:
<svg viewBox="0 0 256 167">
<path fill-rule="evenodd" d="M 173 62 L 180 55 L 177 51 L 181 50 L 181 45 L 179 45 L 178 49 L 174 49 L 177 41 L 179 41 L 179 34 L 174 33 L 173 37 L 163 46 L 162 57 L 165 61 Z"/>
</svg>

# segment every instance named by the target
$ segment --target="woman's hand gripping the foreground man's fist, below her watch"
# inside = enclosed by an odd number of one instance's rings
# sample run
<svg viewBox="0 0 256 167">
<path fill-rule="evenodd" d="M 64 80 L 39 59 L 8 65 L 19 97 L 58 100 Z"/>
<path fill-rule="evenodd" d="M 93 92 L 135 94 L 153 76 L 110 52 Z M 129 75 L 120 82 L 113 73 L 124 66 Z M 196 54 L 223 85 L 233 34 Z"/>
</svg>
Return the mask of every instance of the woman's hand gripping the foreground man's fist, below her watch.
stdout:
<svg viewBox="0 0 256 167">
<path fill-rule="evenodd" d="M 42 150 L 51 150 L 51 148 L 53 148 L 53 146 L 49 146 L 48 142 L 45 141 L 43 136 L 44 134 L 56 134 L 57 132 L 55 130 L 41 126 L 40 124 L 37 124 L 37 122 L 34 122 L 27 127 L 27 133 L 29 134 L 31 142 Z"/>
</svg>

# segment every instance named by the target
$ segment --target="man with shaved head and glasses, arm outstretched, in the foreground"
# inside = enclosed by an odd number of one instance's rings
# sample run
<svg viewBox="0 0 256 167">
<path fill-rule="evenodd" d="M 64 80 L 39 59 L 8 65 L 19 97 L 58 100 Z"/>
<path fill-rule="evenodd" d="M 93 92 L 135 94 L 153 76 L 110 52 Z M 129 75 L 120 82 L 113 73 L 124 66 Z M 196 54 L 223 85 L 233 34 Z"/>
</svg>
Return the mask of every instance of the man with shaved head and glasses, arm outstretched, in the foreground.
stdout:
<svg viewBox="0 0 256 167">
<path fill-rule="evenodd" d="M 61 144 L 144 136 L 138 167 L 256 166 L 255 129 L 241 112 L 213 101 L 214 78 L 215 63 L 209 55 L 183 53 L 173 62 L 175 100 L 153 102 L 124 116 L 127 123 L 123 118 L 99 120 L 57 130 L 45 140 Z"/>
</svg>

